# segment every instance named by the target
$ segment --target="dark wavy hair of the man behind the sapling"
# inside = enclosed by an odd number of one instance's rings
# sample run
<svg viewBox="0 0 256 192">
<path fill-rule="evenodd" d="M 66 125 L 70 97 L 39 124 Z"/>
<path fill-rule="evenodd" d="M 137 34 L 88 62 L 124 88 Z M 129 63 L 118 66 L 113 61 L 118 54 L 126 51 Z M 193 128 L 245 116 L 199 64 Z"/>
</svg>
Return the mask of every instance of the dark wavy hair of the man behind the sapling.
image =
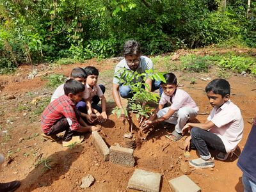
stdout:
<svg viewBox="0 0 256 192">
<path fill-rule="evenodd" d="M 141 54 L 140 43 L 135 40 L 128 40 L 124 44 L 123 54 L 124 56 L 139 56 Z"/>
</svg>

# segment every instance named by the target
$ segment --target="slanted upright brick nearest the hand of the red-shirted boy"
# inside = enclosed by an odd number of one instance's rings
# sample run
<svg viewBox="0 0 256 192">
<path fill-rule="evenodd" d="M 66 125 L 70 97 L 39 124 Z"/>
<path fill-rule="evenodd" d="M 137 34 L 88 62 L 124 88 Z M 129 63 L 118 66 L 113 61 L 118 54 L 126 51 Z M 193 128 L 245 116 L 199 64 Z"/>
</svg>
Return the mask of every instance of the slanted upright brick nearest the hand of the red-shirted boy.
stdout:
<svg viewBox="0 0 256 192">
<path fill-rule="evenodd" d="M 104 161 L 109 160 L 109 148 L 97 131 L 92 132 L 92 144 Z"/>
</svg>

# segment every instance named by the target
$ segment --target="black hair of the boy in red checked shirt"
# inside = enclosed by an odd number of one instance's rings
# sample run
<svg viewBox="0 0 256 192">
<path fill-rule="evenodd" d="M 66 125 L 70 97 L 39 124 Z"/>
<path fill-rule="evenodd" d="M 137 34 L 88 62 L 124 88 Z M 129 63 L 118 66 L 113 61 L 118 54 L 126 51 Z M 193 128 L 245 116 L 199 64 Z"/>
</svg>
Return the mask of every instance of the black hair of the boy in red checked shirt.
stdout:
<svg viewBox="0 0 256 192">
<path fill-rule="evenodd" d="M 65 95 L 68 95 L 69 93 L 76 95 L 77 93 L 83 92 L 84 89 L 84 84 L 74 79 L 68 79 L 68 81 L 66 81 L 66 83 L 64 84 Z"/>
</svg>

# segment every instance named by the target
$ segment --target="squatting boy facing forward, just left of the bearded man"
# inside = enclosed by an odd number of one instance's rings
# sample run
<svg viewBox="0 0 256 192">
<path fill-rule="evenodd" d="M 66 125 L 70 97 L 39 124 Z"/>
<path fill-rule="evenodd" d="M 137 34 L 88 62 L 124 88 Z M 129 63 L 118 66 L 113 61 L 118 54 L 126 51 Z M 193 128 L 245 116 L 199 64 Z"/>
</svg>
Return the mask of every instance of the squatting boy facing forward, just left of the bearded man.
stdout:
<svg viewBox="0 0 256 192">
<path fill-rule="evenodd" d="M 92 114 L 95 114 L 99 122 L 105 122 L 108 119 L 106 113 L 107 102 L 103 95 L 106 88 L 102 84 L 97 84 L 99 70 L 95 67 L 88 66 L 84 68 L 84 71 L 87 75 L 86 88 L 88 90 L 88 97 L 85 100 L 86 105 L 88 106 L 88 115 L 92 116 Z M 100 100 L 101 108 L 98 106 Z"/>
</svg>

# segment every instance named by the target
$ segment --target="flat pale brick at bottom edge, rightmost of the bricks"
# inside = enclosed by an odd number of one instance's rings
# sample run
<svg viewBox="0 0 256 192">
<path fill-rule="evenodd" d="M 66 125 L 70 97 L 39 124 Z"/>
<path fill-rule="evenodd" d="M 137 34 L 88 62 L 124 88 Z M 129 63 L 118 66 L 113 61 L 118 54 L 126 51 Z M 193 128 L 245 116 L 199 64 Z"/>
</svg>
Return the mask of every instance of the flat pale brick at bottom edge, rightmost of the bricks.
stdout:
<svg viewBox="0 0 256 192">
<path fill-rule="evenodd" d="M 193 180 L 189 179 L 187 175 L 182 175 L 175 179 L 169 180 L 169 184 L 172 188 L 172 191 L 175 192 L 200 192 L 201 189 L 193 182 Z"/>
</svg>

